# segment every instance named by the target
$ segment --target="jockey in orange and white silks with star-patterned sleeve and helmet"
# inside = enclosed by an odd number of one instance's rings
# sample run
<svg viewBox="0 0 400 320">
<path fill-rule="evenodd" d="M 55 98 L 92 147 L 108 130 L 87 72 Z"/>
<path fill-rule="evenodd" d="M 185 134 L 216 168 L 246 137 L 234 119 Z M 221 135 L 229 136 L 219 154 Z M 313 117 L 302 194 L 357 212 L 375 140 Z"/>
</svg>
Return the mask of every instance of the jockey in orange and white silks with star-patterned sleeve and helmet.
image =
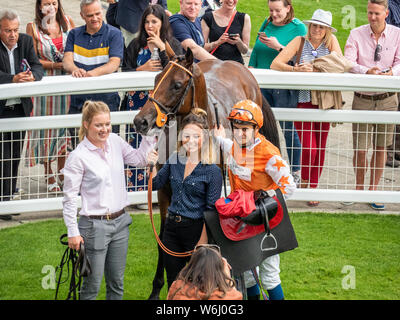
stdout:
<svg viewBox="0 0 400 320">
<path fill-rule="evenodd" d="M 296 190 L 296 184 L 279 149 L 259 132 L 263 125 L 261 108 L 251 100 L 243 100 L 233 106 L 228 119 L 232 125 L 233 140 L 225 137 L 222 126 L 215 127 L 214 135 L 222 150 L 229 154 L 227 165 L 231 192 L 239 189 L 256 191 L 279 188 L 288 199 Z M 284 298 L 279 262 L 279 255 L 276 254 L 265 259 L 259 266 L 261 284 L 271 300 Z M 245 272 L 245 282 L 249 299 L 259 298 L 250 271 Z"/>
</svg>

